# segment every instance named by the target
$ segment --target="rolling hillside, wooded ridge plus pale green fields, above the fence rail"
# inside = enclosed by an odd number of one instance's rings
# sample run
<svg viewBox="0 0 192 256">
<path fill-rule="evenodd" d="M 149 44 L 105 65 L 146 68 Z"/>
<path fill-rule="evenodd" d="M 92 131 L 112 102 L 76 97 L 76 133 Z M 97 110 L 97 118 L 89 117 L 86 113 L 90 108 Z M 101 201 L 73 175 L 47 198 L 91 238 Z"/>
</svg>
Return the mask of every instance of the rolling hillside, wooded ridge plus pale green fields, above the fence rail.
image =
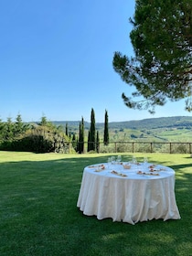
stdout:
<svg viewBox="0 0 192 256">
<path fill-rule="evenodd" d="M 53 122 L 65 127 L 69 133 L 79 134 L 80 121 Z M 84 122 L 85 136 L 90 124 Z M 103 138 L 104 123 L 96 123 L 96 130 Z M 192 116 L 174 116 L 150 118 L 138 121 L 109 123 L 110 141 L 156 141 L 156 142 L 192 142 Z"/>
</svg>

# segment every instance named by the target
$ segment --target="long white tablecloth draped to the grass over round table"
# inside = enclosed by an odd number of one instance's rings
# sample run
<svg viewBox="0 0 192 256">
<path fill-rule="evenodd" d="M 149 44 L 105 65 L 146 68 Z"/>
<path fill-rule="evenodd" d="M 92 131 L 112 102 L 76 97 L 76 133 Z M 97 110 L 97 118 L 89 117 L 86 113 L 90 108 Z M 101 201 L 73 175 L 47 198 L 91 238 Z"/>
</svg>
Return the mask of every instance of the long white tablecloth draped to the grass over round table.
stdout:
<svg viewBox="0 0 192 256">
<path fill-rule="evenodd" d="M 112 218 L 134 224 L 151 219 L 180 219 L 175 197 L 175 171 L 155 165 L 109 166 L 84 168 L 77 206 L 87 216 Z M 112 174 L 115 170 L 117 174 Z M 142 174 L 138 174 L 141 171 Z"/>
</svg>

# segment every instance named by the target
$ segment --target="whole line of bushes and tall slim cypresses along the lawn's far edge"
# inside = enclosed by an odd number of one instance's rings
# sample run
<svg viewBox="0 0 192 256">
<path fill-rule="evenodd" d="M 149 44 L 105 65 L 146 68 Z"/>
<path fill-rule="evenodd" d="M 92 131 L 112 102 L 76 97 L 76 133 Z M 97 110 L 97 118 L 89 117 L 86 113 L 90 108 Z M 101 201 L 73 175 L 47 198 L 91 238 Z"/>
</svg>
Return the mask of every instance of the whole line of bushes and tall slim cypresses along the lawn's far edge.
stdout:
<svg viewBox="0 0 192 256">
<path fill-rule="evenodd" d="M 56 125 L 42 116 L 39 123 L 24 123 L 21 115 L 16 116 L 16 122 L 7 118 L 6 122 L 0 120 L 0 150 L 24 151 L 36 153 L 67 153 L 69 144 L 72 143 L 70 152 L 84 153 L 84 120 L 81 118 L 79 135 L 68 132 L 68 123 L 65 131 L 62 125 Z M 88 134 L 87 151 L 99 152 L 99 131 L 95 129 L 95 113 L 91 109 L 91 127 Z M 103 143 L 109 144 L 108 112 L 105 111 L 105 124 Z"/>
</svg>

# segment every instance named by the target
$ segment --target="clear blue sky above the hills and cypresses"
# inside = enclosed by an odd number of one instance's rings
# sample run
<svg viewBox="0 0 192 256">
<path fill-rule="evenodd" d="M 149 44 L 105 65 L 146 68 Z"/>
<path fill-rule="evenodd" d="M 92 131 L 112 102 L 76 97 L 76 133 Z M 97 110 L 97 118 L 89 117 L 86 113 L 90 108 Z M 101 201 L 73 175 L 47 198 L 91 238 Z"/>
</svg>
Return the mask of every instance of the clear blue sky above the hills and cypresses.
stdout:
<svg viewBox="0 0 192 256">
<path fill-rule="evenodd" d="M 114 51 L 133 56 L 133 0 L 0 1 L 0 119 L 96 122 L 191 115 L 185 102 L 147 111 L 122 100 L 131 89 L 112 69 Z"/>
</svg>

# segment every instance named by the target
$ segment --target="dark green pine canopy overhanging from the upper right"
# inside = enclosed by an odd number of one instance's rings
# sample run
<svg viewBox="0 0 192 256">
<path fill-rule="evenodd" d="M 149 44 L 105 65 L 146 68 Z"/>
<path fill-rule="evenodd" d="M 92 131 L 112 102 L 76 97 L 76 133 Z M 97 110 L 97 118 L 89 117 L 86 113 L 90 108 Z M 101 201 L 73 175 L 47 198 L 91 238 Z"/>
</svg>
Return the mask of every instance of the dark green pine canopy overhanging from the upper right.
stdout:
<svg viewBox="0 0 192 256">
<path fill-rule="evenodd" d="M 125 105 L 153 113 L 167 100 L 186 99 L 192 111 L 192 0 L 137 0 L 130 22 L 134 57 L 115 52 L 112 61 L 135 88 L 123 93 Z"/>
</svg>

